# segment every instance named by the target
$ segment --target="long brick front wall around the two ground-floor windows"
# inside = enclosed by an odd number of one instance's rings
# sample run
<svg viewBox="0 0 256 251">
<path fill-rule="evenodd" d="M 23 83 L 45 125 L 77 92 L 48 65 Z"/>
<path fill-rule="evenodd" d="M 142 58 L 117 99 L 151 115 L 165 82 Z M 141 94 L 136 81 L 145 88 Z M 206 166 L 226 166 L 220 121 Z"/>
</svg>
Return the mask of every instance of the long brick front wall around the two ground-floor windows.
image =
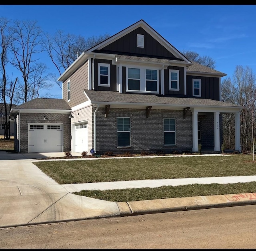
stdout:
<svg viewBox="0 0 256 251">
<path fill-rule="evenodd" d="M 94 111 L 94 110 L 93 110 Z M 117 148 L 116 118 L 130 117 L 131 147 Z M 176 120 L 176 145 L 164 146 L 164 118 Z M 188 111 L 186 119 L 183 110 L 155 110 L 146 117 L 146 109 L 115 109 L 110 107 L 108 117 L 105 108 L 96 113 L 96 152 L 192 151 L 192 113 Z"/>
</svg>

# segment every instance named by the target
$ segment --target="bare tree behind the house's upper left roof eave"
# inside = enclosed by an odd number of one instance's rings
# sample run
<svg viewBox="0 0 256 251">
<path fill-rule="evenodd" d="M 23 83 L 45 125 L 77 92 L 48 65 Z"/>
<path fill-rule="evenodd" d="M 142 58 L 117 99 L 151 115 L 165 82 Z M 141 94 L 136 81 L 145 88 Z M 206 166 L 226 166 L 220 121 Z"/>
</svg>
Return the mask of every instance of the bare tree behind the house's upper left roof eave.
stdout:
<svg viewBox="0 0 256 251">
<path fill-rule="evenodd" d="M 59 75 L 61 75 L 83 51 L 90 49 L 109 37 L 109 34 L 104 34 L 83 38 L 82 36 L 76 36 L 70 33 L 64 34 L 63 31 L 58 30 L 53 36 L 46 34 L 46 40 L 44 40 L 43 46 Z M 58 81 L 56 83 L 62 89 L 62 83 L 58 83 Z"/>
</svg>

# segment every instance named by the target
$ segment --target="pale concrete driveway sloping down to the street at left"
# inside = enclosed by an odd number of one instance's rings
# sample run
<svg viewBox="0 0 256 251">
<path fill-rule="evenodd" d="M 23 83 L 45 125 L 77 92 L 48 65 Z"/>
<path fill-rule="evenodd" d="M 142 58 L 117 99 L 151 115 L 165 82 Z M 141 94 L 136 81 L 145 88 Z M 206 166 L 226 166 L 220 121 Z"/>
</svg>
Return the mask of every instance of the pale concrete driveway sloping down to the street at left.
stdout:
<svg viewBox="0 0 256 251">
<path fill-rule="evenodd" d="M 40 155 L 0 153 L 0 227 L 120 215 L 115 202 L 77 196 L 56 183 L 28 159 Z"/>
</svg>

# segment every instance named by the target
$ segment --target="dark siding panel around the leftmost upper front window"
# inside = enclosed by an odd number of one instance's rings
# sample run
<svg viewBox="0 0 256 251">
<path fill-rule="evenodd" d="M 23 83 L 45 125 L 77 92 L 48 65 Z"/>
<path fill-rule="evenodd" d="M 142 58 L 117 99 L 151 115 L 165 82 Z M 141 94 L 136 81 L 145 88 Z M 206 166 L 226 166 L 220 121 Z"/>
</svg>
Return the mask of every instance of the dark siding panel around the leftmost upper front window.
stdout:
<svg viewBox="0 0 256 251">
<path fill-rule="evenodd" d="M 98 63 L 110 64 L 110 87 L 98 86 Z M 116 91 L 116 65 L 112 65 L 112 60 L 95 59 L 94 61 L 94 90 L 96 91 Z"/>
</svg>

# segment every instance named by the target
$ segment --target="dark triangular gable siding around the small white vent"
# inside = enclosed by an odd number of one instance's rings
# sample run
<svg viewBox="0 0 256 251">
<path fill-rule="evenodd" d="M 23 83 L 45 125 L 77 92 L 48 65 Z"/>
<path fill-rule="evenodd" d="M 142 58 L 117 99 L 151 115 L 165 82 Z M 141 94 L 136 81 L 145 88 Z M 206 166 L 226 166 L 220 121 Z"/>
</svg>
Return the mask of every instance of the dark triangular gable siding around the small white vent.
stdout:
<svg viewBox="0 0 256 251">
<path fill-rule="evenodd" d="M 137 34 L 144 35 L 144 48 L 137 47 Z M 99 52 L 131 53 L 176 59 L 164 46 L 157 42 L 141 27 L 105 46 Z"/>
</svg>

